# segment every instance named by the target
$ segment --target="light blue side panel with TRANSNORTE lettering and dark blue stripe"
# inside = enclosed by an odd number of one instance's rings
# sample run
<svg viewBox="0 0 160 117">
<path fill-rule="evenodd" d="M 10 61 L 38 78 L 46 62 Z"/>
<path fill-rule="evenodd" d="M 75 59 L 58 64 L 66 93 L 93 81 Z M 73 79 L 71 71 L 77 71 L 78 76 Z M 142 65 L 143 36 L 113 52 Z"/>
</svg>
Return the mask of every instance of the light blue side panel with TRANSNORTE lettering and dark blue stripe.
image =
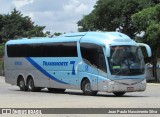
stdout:
<svg viewBox="0 0 160 117">
<path fill-rule="evenodd" d="M 40 74 L 36 82 L 47 79 L 48 88 L 77 88 L 78 71 L 76 68 L 79 61 L 77 57 L 27 58 L 27 60 Z M 37 83 L 36 86 L 42 85 L 44 84 Z"/>
</svg>

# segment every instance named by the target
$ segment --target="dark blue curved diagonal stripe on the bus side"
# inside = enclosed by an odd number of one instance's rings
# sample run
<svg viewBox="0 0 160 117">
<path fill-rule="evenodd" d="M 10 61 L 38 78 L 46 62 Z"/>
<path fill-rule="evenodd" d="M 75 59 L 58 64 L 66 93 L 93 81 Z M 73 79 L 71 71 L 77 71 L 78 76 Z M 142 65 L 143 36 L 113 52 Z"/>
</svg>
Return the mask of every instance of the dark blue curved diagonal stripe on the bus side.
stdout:
<svg viewBox="0 0 160 117">
<path fill-rule="evenodd" d="M 41 73 L 43 73 L 45 76 L 47 76 L 48 78 L 56 81 L 56 82 L 59 82 L 59 83 L 62 83 L 62 84 L 69 84 L 69 83 L 66 83 L 66 82 L 63 82 L 61 80 L 58 80 L 57 78 L 55 78 L 54 76 L 52 76 L 51 74 L 49 74 L 47 71 L 45 71 L 40 65 L 38 65 L 34 60 L 32 60 L 30 57 L 26 57 L 26 59 L 36 68 L 38 69 Z"/>
</svg>

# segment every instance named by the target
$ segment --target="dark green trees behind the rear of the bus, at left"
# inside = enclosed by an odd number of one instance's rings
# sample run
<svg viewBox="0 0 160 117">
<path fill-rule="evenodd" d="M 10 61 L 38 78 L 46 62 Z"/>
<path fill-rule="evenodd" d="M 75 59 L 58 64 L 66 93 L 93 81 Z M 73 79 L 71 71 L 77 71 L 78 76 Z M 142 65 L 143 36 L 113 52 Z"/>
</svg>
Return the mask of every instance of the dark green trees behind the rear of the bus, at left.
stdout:
<svg viewBox="0 0 160 117">
<path fill-rule="evenodd" d="M 13 9 L 10 14 L 0 15 L 0 42 L 22 37 L 45 36 L 45 26 L 34 25 L 31 18 L 23 16 L 20 11 Z"/>
</svg>

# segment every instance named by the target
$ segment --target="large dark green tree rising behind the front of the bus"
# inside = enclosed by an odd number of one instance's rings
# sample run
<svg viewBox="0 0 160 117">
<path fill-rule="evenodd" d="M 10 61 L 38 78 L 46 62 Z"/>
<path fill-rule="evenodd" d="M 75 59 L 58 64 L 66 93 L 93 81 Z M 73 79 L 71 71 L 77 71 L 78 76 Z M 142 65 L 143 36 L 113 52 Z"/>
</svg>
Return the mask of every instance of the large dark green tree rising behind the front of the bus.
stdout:
<svg viewBox="0 0 160 117">
<path fill-rule="evenodd" d="M 98 0 L 94 10 L 78 21 L 79 31 L 115 31 L 133 38 L 131 15 L 149 6 L 148 0 Z"/>
</svg>

